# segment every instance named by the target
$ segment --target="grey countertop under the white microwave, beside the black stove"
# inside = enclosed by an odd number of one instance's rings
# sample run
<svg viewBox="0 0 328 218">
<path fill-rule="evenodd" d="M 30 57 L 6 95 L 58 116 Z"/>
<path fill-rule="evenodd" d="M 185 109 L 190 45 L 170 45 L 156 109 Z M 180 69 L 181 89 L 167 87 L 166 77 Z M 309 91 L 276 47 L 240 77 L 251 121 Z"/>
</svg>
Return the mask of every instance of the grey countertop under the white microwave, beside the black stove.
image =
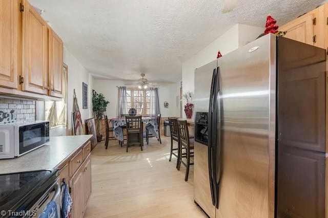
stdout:
<svg viewBox="0 0 328 218">
<path fill-rule="evenodd" d="M 65 161 L 92 135 L 50 137 L 50 142 L 28 154 L 0 160 L 0 174 L 52 169 Z"/>
</svg>

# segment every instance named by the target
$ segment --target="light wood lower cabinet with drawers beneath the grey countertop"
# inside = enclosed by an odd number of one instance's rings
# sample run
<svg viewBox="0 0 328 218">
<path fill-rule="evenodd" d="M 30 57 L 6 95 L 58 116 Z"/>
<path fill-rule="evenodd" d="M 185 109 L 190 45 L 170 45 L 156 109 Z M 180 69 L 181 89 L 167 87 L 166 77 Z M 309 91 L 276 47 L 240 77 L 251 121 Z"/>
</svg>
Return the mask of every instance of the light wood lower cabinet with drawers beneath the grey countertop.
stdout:
<svg viewBox="0 0 328 218">
<path fill-rule="evenodd" d="M 80 146 L 66 161 L 60 163 L 60 181 L 65 179 L 69 186 L 73 210 L 72 217 L 84 216 L 88 199 L 91 194 L 91 142 Z"/>
</svg>

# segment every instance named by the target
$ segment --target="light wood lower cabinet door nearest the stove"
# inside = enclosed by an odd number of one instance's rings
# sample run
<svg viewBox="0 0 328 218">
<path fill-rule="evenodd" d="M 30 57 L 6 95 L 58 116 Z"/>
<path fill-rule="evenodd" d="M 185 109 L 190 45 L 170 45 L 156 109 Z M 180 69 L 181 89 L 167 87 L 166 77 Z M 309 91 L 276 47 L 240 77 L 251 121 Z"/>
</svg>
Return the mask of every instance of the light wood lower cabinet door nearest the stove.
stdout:
<svg viewBox="0 0 328 218">
<path fill-rule="evenodd" d="M 73 202 L 72 217 L 75 218 L 83 217 L 85 210 L 84 170 L 85 168 L 81 166 L 70 181 L 71 197 Z"/>
</svg>

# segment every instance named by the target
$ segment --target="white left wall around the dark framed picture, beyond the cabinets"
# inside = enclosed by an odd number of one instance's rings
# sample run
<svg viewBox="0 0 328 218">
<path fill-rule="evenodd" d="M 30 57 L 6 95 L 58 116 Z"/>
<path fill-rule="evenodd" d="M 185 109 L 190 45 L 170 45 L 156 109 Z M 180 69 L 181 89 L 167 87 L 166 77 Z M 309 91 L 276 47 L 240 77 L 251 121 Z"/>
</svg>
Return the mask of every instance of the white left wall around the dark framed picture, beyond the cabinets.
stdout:
<svg viewBox="0 0 328 218">
<path fill-rule="evenodd" d="M 64 47 L 64 62 L 68 66 L 68 91 L 67 91 L 67 107 L 68 107 L 68 128 L 72 128 L 72 109 L 73 109 L 73 90 L 75 89 L 81 119 L 92 117 L 92 81 L 93 78 L 82 64 L 73 56 L 67 48 Z M 88 109 L 83 109 L 82 104 L 82 82 L 88 84 Z"/>
</svg>

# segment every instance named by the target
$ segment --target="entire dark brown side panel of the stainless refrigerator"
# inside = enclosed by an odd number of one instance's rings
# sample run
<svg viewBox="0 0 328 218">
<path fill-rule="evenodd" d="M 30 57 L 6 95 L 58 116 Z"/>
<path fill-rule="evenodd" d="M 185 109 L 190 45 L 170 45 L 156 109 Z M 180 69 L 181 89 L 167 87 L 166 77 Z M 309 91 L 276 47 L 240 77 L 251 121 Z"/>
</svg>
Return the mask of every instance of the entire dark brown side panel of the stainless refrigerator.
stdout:
<svg viewBox="0 0 328 218">
<path fill-rule="evenodd" d="M 324 217 L 325 50 L 277 38 L 277 217 Z"/>
</svg>

